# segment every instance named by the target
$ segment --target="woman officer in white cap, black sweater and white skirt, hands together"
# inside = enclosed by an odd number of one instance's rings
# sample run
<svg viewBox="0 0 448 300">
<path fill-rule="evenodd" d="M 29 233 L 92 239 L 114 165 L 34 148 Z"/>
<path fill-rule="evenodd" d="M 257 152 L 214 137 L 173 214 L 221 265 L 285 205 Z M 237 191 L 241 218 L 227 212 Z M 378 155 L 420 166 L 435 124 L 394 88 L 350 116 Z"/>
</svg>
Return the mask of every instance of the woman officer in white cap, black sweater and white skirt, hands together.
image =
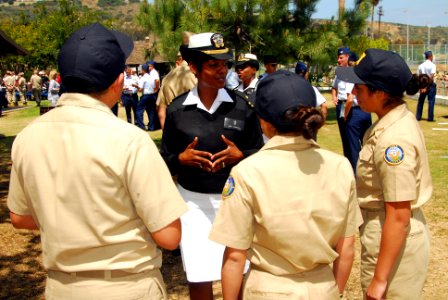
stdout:
<svg viewBox="0 0 448 300">
<path fill-rule="evenodd" d="M 224 247 L 208 240 L 232 166 L 262 146 L 253 107 L 224 88 L 232 53 L 218 33 L 190 37 L 182 57 L 198 79 L 168 106 L 161 154 L 190 210 L 182 216 L 181 254 L 191 299 L 211 299 Z"/>
</svg>

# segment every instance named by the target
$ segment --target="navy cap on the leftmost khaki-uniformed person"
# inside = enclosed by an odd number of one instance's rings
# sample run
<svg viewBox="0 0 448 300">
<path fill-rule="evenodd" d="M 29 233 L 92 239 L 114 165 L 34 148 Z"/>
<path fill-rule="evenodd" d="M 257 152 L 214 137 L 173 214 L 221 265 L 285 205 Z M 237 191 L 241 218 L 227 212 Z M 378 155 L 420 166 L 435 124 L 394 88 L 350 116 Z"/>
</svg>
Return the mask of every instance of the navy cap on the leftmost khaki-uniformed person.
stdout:
<svg viewBox="0 0 448 300">
<path fill-rule="evenodd" d="M 59 51 L 62 84 L 69 90 L 70 82 L 83 80 L 93 88 L 90 91 L 106 90 L 124 71 L 133 48 L 131 38 L 99 23 L 78 29 Z"/>
</svg>

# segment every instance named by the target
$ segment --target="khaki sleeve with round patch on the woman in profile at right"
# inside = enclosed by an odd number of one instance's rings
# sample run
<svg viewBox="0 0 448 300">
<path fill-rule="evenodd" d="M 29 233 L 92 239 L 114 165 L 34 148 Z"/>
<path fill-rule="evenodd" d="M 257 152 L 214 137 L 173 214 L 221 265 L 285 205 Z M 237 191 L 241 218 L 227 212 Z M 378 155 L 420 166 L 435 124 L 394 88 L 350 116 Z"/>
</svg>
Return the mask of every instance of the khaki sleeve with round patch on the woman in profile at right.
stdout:
<svg viewBox="0 0 448 300">
<path fill-rule="evenodd" d="M 401 153 L 386 154 L 394 147 Z M 400 150 L 401 149 L 401 150 Z M 383 188 L 385 202 L 413 201 L 417 199 L 416 172 L 420 154 L 406 135 L 384 137 L 378 142 L 374 159 L 378 177 Z M 389 159 L 389 161 L 387 160 Z M 390 161 L 392 160 L 392 161 Z"/>
</svg>

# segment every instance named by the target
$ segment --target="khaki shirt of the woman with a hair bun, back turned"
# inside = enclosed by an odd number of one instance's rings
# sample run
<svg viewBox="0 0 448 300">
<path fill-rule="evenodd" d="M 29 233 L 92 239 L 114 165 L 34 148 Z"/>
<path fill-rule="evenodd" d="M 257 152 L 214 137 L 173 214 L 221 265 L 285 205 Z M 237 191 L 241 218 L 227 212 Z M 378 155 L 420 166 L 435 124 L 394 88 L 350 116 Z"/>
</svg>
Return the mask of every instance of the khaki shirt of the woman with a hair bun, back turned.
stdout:
<svg viewBox="0 0 448 300">
<path fill-rule="evenodd" d="M 288 275 L 332 263 L 338 240 L 355 235 L 361 219 L 346 158 L 300 136 L 274 136 L 232 169 L 210 239 L 249 249 L 256 269 Z"/>
</svg>

